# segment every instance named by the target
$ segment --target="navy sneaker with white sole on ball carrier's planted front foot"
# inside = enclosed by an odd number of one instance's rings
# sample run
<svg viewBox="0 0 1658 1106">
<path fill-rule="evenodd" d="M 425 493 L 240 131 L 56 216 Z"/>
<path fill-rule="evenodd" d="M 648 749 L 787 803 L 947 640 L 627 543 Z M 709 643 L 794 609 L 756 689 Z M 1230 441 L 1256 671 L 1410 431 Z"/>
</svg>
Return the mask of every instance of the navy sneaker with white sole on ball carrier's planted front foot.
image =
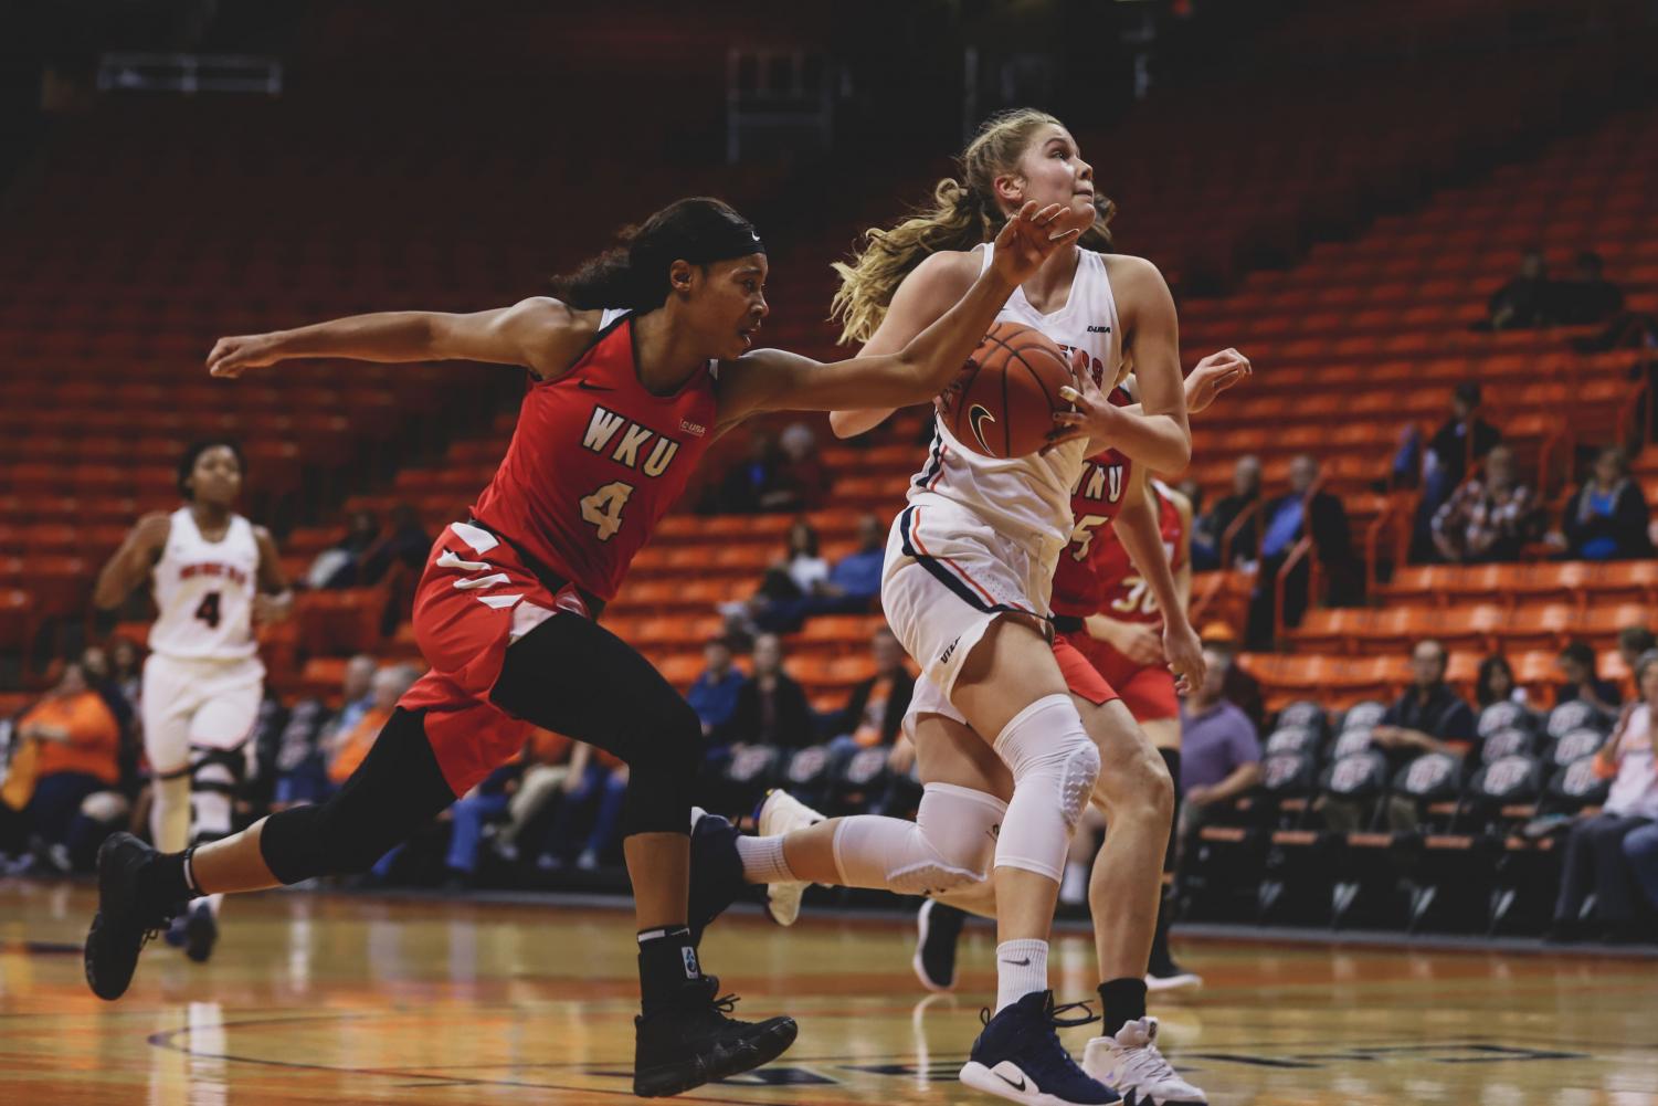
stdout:
<svg viewBox="0 0 1658 1106">
<path fill-rule="evenodd" d="M 1031 992 L 993 1018 L 985 1011 L 985 1031 L 962 1065 L 962 1083 L 1028 1106 L 1117 1106 L 1122 1096 L 1078 1068 L 1054 1031 L 1094 1020 L 1093 1013 L 1059 1016 L 1076 1008 L 1088 1010 L 1084 1003 L 1054 1007 L 1053 992 Z"/>
</svg>

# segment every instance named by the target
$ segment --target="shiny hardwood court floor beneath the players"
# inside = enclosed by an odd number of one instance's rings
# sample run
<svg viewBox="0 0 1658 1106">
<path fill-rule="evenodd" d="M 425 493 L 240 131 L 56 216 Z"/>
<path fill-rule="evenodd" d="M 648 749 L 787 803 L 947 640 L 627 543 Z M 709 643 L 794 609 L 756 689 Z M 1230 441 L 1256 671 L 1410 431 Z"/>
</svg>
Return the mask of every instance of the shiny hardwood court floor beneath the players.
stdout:
<svg viewBox="0 0 1658 1106">
<path fill-rule="evenodd" d="M 91 997 L 88 885 L 0 885 L 0 1101 L 625 1101 L 635 968 L 618 910 L 265 894 L 232 900 L 209 965 L 144 953 Z M 1658 960 L 1187 940 L 1207 987 L 1157 1002 L 1166 1051 L 1214 1106 L 1658 1104 Z M 955 1081 L 993 993 L 970 929 L 957 995 L 925 997 L 897 920 L 778 930 L 738 915 L 703 945 L 801 1038 L 701 1103 L 990 1103 Z M 1093 993 L 1093 945 L 1058 939 L 1059 1000 Z M 1068 1030 L 1081 1050 L 1088 1030 Z"/>
</svg>

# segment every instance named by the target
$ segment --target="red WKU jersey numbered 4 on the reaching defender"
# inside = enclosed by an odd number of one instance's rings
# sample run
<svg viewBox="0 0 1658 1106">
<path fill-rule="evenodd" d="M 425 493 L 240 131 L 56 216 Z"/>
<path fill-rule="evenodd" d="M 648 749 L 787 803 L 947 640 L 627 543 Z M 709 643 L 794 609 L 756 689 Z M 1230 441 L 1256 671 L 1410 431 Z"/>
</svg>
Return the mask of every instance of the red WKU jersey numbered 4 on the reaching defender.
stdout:
<svg viewBox="0 0 1658 1106">
<path fill-rule="evenodd" d="M 632 317 L 607 315 L 569 373 L 531 381 L 473 517 L 608 602 L 685 491 L 713 428 L 713 363 L 673 395 L 652 395 L 638 381 Z"/>
</svg>

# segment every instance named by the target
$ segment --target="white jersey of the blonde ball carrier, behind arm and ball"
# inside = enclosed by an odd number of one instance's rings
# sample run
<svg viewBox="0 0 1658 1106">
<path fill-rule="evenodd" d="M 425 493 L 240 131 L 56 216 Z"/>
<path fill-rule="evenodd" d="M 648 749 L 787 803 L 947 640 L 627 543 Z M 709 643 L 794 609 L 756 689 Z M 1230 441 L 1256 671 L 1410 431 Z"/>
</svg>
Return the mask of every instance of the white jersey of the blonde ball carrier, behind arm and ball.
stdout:
<svg viewBox="0 0 1658 1106">
<path fill-rule="evenodd" d="M 980 272 L 990 267 L 995 245 L 982 245 Z M 1117 302 L 1106 277 L 1106 259 L 1078 250 L 1076 275 L 1064 307 L 1043 315 L 1025 289 L 1015 289 L 996 322 L 1025 323 L 1043 332 L 1066 353 L 1086 350 L 1094 380 L 1108 388 L 1122 363 L 1122 327 Z M 909 497 L 943 496 L 980 514 L 996 532 L 1051 560 L 1071 541 L 1071 488 L 1083 476 L 1088 441 L 1069 441 L 1046 456 L 1030 454 L 998 461 L 973 453 L 935 423 L 927 466 L 910 481 Z M 1051 569 L 1051 564 L 1050 564 Z"/>
</svg>

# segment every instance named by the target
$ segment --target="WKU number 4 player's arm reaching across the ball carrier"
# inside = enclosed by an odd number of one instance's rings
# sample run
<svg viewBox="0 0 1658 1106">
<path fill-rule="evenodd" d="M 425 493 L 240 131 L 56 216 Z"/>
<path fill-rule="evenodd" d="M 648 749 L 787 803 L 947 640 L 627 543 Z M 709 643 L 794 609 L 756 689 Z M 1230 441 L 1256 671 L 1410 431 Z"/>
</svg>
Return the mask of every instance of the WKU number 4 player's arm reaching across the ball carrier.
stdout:
<svg viewBox="0 0 1658 1106">
<path fill-rule="evenodd" d="M 756 350 L 720 368 L 720 424 L 756 411 L 836 411 L 897 408 L 943 391 L 978 347 L 996 312 L 1056 249 L 1071 245 L 1076 230 L 1051 235 L 1064 214 L 1059 204 L 1025 207 L 996 235 L 993 264 L 932 323 L 894 353 L 874 353 L 822 363 L 784 350 Z"/>
</svg>

